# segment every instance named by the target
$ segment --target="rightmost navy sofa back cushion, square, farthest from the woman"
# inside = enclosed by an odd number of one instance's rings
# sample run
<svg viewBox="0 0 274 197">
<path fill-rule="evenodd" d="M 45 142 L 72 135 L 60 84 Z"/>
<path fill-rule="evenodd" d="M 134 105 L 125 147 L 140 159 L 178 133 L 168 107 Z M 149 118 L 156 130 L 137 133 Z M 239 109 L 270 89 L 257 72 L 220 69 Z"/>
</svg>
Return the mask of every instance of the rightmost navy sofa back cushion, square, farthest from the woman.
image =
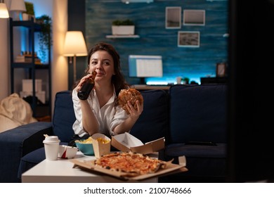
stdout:
<svg viewBox="0 0 274 197">
<path fill-rule="evenodd" d="M 226 90 L 226 84 L 172 86 L 169 143 L 225 143 Z"/>
</svg>

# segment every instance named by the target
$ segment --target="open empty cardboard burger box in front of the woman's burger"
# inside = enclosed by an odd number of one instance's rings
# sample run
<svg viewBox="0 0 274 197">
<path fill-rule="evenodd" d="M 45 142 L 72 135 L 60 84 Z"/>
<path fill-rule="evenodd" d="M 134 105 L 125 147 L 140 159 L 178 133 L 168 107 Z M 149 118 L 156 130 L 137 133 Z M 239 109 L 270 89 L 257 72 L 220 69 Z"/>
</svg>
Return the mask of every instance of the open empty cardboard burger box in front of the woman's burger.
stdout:
<svg viewBox="0 0 274 197">
<path fill-rule="evenodd" d="M 164 148 L 164 137 L 143 144 L 140 139 L 126 132 L 112 136 L 111 145 L 123 152 L 148 154 Z"/>
</svg>

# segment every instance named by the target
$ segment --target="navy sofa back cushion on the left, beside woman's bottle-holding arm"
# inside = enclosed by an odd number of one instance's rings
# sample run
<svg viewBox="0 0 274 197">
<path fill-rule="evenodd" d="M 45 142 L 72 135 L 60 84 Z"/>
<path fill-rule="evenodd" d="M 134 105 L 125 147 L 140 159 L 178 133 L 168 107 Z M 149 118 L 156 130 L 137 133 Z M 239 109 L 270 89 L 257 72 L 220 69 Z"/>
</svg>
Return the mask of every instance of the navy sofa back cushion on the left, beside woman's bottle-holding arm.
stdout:
<svg viewBox="0 0 274 197">
<path fill-rule="evenodd" d="M 69 142 L 74 134 L 72 125 L 74 115 L 72 91 L 59 91 L 56 94 L 53 112 L 53 134 L 62 142 Z"/>
</svg>

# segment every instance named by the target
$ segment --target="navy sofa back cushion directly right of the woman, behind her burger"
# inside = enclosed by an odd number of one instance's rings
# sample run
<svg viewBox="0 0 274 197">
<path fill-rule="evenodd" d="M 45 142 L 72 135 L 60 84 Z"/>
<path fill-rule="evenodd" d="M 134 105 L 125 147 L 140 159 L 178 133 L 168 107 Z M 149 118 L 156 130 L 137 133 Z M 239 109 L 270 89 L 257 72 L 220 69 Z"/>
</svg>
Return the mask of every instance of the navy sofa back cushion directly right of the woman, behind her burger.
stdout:
<svg viewBox="0 0 274 197">
<path fill-rule="evenodd" d="M 131 134 L 143 143 L 166 136 L 169 131 L 169 98 L 167 91 L 141 91 L 143 113 L 131 129 Z"/>
</svg>

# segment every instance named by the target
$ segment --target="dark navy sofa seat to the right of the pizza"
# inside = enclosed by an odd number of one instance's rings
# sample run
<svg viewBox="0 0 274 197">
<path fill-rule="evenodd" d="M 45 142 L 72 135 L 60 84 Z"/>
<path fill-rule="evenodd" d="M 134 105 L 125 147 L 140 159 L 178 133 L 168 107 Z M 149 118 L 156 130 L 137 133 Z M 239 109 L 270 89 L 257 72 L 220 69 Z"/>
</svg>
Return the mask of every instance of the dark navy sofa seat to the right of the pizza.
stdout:
<svg viewBox="0 0 274 197">
<path fill-rule="evenodd" d="M 226 177 L 226 144 L 216 146 L 169 144 L 159 159 L 172 160 L 178 164 L 178 157 L 184 155 L 188 172 L 174 174 L 160 182 L 224 182 Z"/>
</svg>

